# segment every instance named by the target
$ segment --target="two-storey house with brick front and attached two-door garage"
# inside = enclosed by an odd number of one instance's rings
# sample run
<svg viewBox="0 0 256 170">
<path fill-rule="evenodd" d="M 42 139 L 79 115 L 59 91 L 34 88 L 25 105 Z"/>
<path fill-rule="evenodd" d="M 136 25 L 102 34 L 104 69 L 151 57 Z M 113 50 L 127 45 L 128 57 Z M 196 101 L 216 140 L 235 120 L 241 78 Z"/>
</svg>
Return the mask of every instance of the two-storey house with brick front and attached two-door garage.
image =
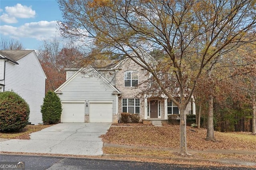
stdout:
<svg viewBox="0 0 256 170">
<path fill-rule="evenodd" d="M 141 93 L 136 86 L 147 79 L 145 75 L 146 70 L 131 59 L 106 69 L 66 69 L 66 82 L 55 90 L 63 105 L 61 122 L 117 123 L 120 113 L 128 112 L 138 113 L 141 121 L 150 123 L 179 114 L 165 95 Z M 186 113 L 191 111 L 189 104 Z"/>
</svg>

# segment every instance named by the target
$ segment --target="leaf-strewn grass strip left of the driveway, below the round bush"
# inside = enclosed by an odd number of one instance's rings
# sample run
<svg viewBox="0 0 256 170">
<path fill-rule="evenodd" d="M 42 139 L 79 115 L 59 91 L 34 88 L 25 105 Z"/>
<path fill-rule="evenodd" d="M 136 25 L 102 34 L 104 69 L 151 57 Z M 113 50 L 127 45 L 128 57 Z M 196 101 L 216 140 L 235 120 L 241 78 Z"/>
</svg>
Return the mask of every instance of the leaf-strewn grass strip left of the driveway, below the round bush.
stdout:
<svg viewBox="0 0 256 170">
<path fill-rule="evenodd" d="M 37 132 L 43 128 L 50 127 L 52 125 L 27 125 L 21 132 L 3 133 L 0 132 L 0 138 L 10 139 L 30 139 L 29 134 Z"/>
</svg>

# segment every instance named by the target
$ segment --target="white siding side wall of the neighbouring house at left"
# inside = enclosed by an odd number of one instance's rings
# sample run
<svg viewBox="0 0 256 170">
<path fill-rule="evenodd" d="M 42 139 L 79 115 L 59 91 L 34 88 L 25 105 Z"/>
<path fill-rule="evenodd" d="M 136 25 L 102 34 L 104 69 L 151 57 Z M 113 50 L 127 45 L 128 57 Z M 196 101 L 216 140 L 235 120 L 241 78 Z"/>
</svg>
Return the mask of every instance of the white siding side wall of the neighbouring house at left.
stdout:
<svg viewBox="0 0 256 170">
<path fill-rule="evenodd" d="M 5 91 L 14 91 L 30 107 L 29 122 L 42 123 L 41 105 L 45 96 L 46 77 L 34 52 L 18 60 L 18 65 L 6 62 Z"/>
</svg>

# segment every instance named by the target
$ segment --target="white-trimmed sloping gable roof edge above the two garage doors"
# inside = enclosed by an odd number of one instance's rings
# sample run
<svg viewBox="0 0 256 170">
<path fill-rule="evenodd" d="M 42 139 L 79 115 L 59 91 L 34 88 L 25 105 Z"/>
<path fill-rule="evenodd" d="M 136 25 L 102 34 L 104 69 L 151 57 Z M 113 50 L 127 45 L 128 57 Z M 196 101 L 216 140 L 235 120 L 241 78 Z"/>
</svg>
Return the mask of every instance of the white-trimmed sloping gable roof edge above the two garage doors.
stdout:
<svg viewBox="0 0 256 170">
<path fill-rule="evenodd" d="M 88 68 L 84 68 L 82 67 L 81 69 L 79 69 L 78 71 L 76 71 L 76 73 L 74 73 L 71 77 L 69 77 L 62 85 L 60 85 L 60 87 L 58 87 L 54 92 L 58 93 L 58 91 L 61 91 L 66 85 L 68 85 L 68 83 L 70 83 L 74 78 L 76 78 L 80 73 L 82 73 L 82 71 L 84 69 L 88 69 Z M 91 71 L 93 71 L 94 73 L 96 73 L 110 88 L 113 89 L 113 93 L 112 94 L 121 94 L 121 92 L 116 89 L 116 87 L 114 87 L 110 82 L 108 82 L 108 80 L 101 75 L 96 69 L 94 69 L 93 67 L 89 67 L 89 69 L 91 69 Z"/>
</svg>

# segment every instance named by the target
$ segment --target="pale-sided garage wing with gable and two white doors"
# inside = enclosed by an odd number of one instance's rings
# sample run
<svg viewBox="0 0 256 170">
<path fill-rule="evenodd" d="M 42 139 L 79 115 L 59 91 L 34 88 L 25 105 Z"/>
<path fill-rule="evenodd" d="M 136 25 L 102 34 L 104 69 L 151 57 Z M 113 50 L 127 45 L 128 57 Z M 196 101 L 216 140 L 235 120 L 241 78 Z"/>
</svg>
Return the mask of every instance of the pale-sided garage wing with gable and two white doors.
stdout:
<svg viewBox="0 0 256 170">
<path fill-rule="evenodd" d="M 120 91 L 93 68 L 67 70 L 67 80 L 55 92 L 62 101 L 63 123 L 118 121 Z"/>
</svg>

